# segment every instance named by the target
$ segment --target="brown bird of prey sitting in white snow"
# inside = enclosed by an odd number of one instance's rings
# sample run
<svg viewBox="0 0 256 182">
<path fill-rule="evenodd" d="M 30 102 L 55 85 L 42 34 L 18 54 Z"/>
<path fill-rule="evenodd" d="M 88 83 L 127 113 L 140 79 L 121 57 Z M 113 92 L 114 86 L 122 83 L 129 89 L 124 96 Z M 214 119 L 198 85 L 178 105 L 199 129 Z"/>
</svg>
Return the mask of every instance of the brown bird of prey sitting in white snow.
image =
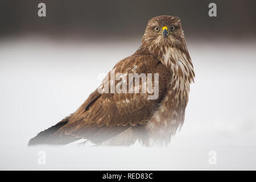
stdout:
<svg viewBox="0 0 256 182">
<path fill-rule="evenodd" d="M 149 98 L 152 92 L 141 91 L 142 81 L 137 85 L 139 92 L 127 92 L 124 86 L 123 92 L 105 92 L 118 87 L 118 82 L 109 79 L 111 74 L 127 77 L 148 73 L 154 75 L 151 85 L 158 85 L 154 99 Z M 102 81 L 99 88 L 104 92 L 96 89 L 75 113 L 40 132 L 28 145 L 68 144 L 80 139 L 96 145 L 129 146 L 137 141 L 143 146 L 168 144 L 183 125 L 194 77 L 180 19 L 156 16 L 148 21 L 138 50 L 119 61 Z M 127 79 L 124 82 L 129 84 Z"/>
</svg>

